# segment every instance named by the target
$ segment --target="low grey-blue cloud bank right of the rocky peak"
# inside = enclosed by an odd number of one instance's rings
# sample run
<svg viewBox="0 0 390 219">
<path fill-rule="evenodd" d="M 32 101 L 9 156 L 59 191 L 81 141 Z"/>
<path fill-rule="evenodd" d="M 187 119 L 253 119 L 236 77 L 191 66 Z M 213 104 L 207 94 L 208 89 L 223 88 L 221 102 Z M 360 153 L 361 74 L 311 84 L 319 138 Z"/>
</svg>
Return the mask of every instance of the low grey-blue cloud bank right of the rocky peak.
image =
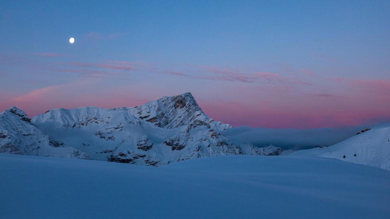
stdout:
<svg viewBox="0 0 390 219">
<path fill-rule="evenodd" d="M 356 135 L 370 125 L 320 129 L 269 129 L 235 127 L 223 132 L 234 144 L 253 144 L 257 147 L 274 145 L 284 150 L 302 150 L 317 145 L 328 147 Z"/>
</svg>

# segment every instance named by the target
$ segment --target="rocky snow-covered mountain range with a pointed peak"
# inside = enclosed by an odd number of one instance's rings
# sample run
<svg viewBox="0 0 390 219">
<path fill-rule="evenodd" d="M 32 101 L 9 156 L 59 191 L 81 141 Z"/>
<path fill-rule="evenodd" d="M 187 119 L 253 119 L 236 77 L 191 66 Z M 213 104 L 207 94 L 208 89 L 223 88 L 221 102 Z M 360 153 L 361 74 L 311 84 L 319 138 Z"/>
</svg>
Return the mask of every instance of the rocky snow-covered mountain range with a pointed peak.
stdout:
<svg viewBox="0 0 390 219">
<path fill-rule="evenodd" d="M 50 109 L 31 120 L 16 107 L 1 115 L 0 150 L 9 154 L 161 166 L 199 157 L 282 152 L 273 146 L 234 145 L 221 133 L 232 126 L 209 118 L 190 93 L 132 108 Z"/>
</svg>

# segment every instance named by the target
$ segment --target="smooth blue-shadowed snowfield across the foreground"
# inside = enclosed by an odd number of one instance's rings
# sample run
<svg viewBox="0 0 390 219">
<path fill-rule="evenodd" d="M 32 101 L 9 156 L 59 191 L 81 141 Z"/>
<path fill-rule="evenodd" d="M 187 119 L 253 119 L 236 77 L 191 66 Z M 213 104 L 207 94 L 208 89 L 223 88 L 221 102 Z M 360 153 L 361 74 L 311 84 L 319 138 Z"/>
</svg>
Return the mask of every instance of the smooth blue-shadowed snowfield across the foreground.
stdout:
<svg viewBox="0 0 390 219">
<path fill-rule="evenodd" d="M 300 156 L 148 167 L 0 154 L 0 218 L 389 218 L 390 172 Z"/>
</svg>

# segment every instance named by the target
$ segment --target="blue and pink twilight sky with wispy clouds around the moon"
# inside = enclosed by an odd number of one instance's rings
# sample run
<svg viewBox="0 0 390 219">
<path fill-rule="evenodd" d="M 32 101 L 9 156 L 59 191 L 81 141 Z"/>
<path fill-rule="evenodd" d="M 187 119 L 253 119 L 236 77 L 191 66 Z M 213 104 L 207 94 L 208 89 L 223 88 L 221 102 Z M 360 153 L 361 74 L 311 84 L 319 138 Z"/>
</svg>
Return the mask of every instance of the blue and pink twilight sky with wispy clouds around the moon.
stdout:
<svg viewBox="0 0 390 219">
<path fill-rule="evenodd" d="M 189 91 L 234 125 L 387 121 L 389 9 L 389 1 L 1 2 L 0 111 L 134 106 Z"/>
</svg>

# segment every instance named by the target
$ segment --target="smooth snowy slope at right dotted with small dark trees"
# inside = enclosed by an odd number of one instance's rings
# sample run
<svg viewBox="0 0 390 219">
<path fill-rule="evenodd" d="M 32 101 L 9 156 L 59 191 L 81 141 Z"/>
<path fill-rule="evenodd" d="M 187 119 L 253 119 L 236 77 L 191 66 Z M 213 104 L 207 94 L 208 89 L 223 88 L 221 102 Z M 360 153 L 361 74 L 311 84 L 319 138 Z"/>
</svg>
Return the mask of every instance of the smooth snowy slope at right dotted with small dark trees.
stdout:
<svg viewBox="0 0 390 219">
<path fill-rule="evenodd" d="M 330 157 L 390 170 L 390 124 L 362 130 L 330 147 L 300 150 L 291 155 Z"/>
</svg>

